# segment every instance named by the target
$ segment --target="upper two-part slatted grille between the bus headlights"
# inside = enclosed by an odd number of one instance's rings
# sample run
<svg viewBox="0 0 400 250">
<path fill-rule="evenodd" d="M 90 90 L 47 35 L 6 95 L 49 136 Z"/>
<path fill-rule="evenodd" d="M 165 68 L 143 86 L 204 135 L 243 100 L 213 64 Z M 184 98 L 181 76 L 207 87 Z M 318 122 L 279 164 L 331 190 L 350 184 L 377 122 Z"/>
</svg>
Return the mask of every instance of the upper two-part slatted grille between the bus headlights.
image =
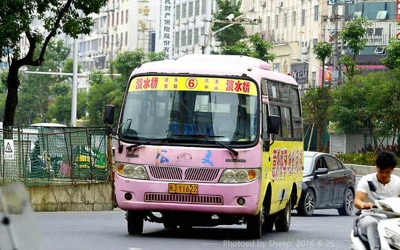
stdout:
<svg viewBox="0 0 400 250">
<path fill-rule="evenodd" d="M 177 166 L 149 166 L 150 175 L 152 175 L 152 177 L 154 177 L 154 179 L 156 180 L 214 182 L 219 174 L 219 169 L 208 169 L 208 168 L 188 168 L 188 169 L 182 168 L 182 169 Z"/>
</svg>

